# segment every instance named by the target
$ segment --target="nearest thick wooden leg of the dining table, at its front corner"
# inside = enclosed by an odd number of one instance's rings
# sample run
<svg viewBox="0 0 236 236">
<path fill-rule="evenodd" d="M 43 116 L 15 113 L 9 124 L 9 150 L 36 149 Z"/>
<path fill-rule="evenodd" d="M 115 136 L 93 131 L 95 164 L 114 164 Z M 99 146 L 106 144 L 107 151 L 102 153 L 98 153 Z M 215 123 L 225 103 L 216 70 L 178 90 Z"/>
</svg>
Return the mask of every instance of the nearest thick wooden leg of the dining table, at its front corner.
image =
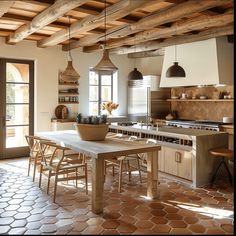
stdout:
<svg viewBox="0 0 236 236">
<path fill-rule="evenodd" d="M 104 159 L 92 158 L 92 212 L 103 212 Z"/>
</svg>

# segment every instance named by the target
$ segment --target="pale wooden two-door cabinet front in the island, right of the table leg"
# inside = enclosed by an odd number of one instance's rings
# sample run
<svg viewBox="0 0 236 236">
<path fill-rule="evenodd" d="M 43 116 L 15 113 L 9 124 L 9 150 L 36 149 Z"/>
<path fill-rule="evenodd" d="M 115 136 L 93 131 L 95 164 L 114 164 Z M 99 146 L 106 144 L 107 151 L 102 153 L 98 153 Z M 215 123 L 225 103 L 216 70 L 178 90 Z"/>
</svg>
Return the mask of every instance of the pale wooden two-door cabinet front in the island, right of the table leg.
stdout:
<svg viewBox="0 0 236 236">
<path fill-rule="evenodd" d="M 162 146 L 158 164 L 160 171 L 192 180 L 192 154 L 190 151 Z"/>
</svg>

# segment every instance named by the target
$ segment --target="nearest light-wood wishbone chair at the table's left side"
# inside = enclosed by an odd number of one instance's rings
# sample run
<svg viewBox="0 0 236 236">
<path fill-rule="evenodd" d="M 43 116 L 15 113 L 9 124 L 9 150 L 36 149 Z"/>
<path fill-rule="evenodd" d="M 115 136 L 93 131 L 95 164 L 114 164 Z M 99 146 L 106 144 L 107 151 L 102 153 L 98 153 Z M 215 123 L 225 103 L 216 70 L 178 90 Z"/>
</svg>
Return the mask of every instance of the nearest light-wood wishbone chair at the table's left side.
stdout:
<svg viewBox="0 0 236 236">
<path fill-rule="evenodd" d="M 48 179 L 48 194 L 51 177 L 54 177 L 53 202 L 56 200 L 57 184 L 62 181 L 68 182 L 70 180 L 75 180 L 76 187 L 78 187 L 77 180 L 85 179 L 86 194 L 88 194 L 87 163 L 81 153 L 75 153 L 67 147 L 47 141 L 40 141 L 39 149 L 42 155 L 39 187 L 41 187 L 42 174 L 44 174 Z M 45 158 L 44 155 L 46 149 L 50 149 L 52 153 L 49 159 Z M 83 174 L 79 173 L 79 169 L 82 170 Z"/>
</svg>

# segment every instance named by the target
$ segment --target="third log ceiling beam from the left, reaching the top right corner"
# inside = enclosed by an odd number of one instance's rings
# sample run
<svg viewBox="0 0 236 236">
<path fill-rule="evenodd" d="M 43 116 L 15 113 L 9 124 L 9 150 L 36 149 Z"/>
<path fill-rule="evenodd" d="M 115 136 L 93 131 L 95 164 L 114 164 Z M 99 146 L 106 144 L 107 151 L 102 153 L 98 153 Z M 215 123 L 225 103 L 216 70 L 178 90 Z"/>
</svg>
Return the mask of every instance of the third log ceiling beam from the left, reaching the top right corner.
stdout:
<svg viewBox="0 0 236 236">
<path fill-rule="evenodd" d="M 224 0 L 224 4 L 232 3 L 232 0 Z M 215 6 L 222 5 L 222 0 L 211 0 L 211 1 L 199 1 L 199 0 L 189 0 L 187 2 L 180 3 L 169 7 L 161 12 L 158 11 L 150 16 L 144 17 L 133 24 L 126 24 L 124 26 L 117 26 L 106 32 L 106 39 L 111 38 L 122 38 L 130 34 L 140 32 L 142 30 L 151 29 L 153 27 L 173 22 L 175 20 L 181 19 L 183 17 L 189 16 L 196 12 L 201 12 L 213 8 Z M 104 40 L 104 34 L 86 36 L 77 42 L 70 44 L 70 49 L 83 47 L 97 43 Z M 63 46 L 62 50 L 67 51 L 68 46 Z M 86 50 L 86 49 L 85 49 Z"/>
</svg>

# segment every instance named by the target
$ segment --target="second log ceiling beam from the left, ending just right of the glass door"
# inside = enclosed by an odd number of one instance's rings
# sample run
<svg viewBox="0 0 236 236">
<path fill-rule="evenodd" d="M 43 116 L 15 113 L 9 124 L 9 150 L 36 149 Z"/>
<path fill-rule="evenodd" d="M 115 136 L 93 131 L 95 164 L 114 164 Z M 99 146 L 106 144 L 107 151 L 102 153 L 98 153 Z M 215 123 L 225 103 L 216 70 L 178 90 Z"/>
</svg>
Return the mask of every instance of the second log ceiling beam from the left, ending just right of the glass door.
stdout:
<svg viewBox="0 0 236 236">
<path fill-rule="evenodd" d="M 158 0 L 158 1 L 161 2 L 164 0 Z M 121 0 L 118 3 L 115 3 L 114 5 L 107 7 L 106 20 L 107 22 L 117 20 L 130 14 L 130 12 L 141 9 L 147 5 L 150 5 L 150 2 L 146 0 L 139 0 L 139 1 Z M 96 16 L 87 16 L 82 20 L 73 23 L 70 26 L 71 36 L 75 36 L 76 34 L 81 34 L 90 31 L 96 27 L 103 25 L 104 17 L 105 17 L 105 10 L 103 10 L 100 14 Z M 38 43 L 38 47 L 53 46 L 60 42 L 65 41 L 67 38 L 68 38 L 68 31 L 61 30 L 53 34 L 49 38 L 40 41 Z"/>
</svg>

